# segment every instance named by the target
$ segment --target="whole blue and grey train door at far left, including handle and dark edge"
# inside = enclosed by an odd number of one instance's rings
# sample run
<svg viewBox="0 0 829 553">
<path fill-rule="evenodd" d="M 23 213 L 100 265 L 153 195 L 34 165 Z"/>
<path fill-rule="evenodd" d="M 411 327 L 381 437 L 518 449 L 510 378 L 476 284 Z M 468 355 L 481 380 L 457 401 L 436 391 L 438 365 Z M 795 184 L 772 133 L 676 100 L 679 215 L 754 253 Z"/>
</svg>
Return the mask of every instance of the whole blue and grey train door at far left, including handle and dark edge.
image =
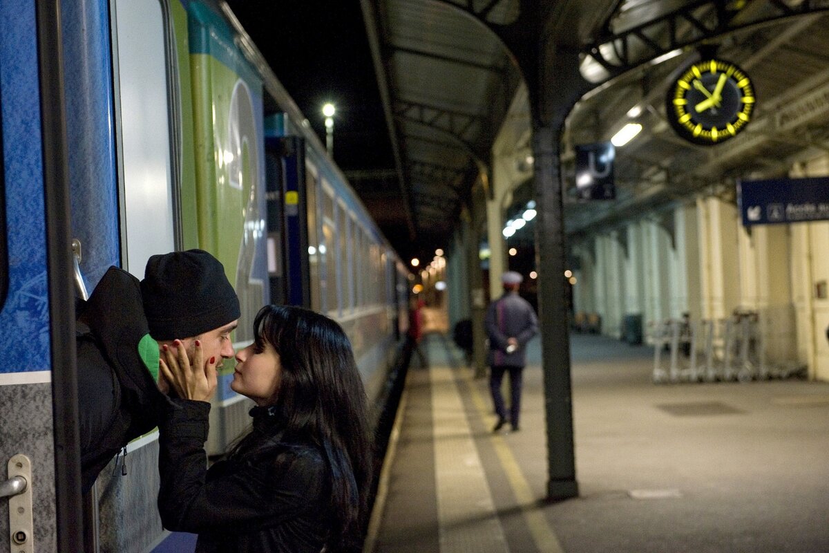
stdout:
<svg viewBox="0 0 829 553">
<path fill-rule="evenodd" d="M 48 0 L 0 3 L 3 551 L 78 551 L 81 543 L 57 13 Z"/>
</svg>

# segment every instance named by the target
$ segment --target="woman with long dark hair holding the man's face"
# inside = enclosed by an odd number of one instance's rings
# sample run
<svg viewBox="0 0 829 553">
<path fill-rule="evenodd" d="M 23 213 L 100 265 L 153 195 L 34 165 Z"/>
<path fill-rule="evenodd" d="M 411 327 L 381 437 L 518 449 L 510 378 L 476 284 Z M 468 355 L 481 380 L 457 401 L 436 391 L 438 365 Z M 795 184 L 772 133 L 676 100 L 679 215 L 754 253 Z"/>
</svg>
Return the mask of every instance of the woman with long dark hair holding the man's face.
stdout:
<svg viewBox="0 0 829 553">
<path fill-rule="evenodd" d="M 303 308 L 267 305 L 254 327 L 230 385 L 255 401 L 253 429 L 209 470 L 216 360 L 201 369 L 200 342 L 192 360 L 180 342 L 162 356 L 182 398 L 159 424 L 163 526 L 197 533 L 196 551 L 360 551 L 371 440 L 351 344 Z"/>
</svg>

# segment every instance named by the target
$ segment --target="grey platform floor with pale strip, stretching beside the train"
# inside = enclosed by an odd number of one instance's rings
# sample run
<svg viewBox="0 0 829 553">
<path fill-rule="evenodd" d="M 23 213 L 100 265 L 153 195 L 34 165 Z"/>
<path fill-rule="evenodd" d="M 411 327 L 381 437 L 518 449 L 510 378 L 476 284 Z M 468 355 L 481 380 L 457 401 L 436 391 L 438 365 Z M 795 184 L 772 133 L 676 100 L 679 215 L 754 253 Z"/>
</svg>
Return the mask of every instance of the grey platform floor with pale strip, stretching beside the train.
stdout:
<svg viewBox="0 0 829 553">
<path fill-rule="evenodd" d="M 498 434 L 487 379 L 444 333 L 423 345 L 367 553 L 829 551 L 829 384 L 654 385 L 652 348 L 575 334 L 579 497 L 548 502 L 539 340 Z"/>
</svg>

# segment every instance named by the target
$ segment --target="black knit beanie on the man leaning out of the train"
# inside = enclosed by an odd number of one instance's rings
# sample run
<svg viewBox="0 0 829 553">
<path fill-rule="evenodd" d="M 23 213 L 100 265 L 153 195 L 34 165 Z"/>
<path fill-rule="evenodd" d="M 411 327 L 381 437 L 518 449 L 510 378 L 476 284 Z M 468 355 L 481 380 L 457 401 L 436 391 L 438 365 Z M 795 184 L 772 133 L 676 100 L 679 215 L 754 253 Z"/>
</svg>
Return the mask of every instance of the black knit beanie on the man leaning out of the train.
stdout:
<svg viewBox="0 0 829 553">
<path fill-rule="evenodd" d="M 141 281 L 150 336 L 198 336 L 240 317 L 239 298 L 225 267 L 203 250 L 153 255 Z"/>
</svg>

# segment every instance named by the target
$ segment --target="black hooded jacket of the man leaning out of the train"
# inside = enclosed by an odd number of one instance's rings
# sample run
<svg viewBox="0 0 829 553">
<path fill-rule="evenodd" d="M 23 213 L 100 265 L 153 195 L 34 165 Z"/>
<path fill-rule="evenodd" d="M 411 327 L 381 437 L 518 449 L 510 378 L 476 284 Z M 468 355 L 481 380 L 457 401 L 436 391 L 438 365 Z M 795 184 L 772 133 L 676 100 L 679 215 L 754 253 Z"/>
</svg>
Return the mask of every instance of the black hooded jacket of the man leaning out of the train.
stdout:
<svg viewBox="0 0 829 553">
<path fill-rule="evenodd" d="M 89 301 L 76 304 L 80 464 L 83 491 L 130 440 L 158 425 L 169 400 L 138 353 L 148 335 L 141 288 L 110 267 Z"/>
</svg>

